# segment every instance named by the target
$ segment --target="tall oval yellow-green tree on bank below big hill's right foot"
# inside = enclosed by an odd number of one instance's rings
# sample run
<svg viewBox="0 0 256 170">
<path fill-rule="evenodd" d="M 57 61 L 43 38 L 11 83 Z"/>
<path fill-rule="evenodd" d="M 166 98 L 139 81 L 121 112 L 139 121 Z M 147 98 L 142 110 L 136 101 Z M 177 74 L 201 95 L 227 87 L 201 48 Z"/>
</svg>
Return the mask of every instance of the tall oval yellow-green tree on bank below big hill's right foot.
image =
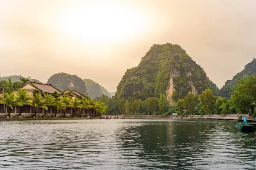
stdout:
<svg viewBox="0 0 256 170">
<path fill-rule="evenodd" d="M 210 113 L 212 102 L 214 102 L 214 96 L 212 90 L 207 88 L 200 94 L 200 101 L 206 113 Z"/>
</svg>

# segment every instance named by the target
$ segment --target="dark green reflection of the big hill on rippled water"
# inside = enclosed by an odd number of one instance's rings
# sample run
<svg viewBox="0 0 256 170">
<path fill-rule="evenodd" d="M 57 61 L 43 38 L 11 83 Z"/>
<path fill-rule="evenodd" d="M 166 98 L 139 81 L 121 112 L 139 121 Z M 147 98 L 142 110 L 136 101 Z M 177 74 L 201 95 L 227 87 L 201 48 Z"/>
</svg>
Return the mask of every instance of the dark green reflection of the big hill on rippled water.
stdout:
<svg viewBox="0 0 256 170">
<path fill-rule="evenodd" d="M 125 156 L 137 156 L 155 168 L 178 168 L 193 164 L 186 159 L 198 156 L 213 128 L 214 123 L 204 121 L 147 122 L 128 127 L 120 138 L 126 147 Z"/>
</svg>

